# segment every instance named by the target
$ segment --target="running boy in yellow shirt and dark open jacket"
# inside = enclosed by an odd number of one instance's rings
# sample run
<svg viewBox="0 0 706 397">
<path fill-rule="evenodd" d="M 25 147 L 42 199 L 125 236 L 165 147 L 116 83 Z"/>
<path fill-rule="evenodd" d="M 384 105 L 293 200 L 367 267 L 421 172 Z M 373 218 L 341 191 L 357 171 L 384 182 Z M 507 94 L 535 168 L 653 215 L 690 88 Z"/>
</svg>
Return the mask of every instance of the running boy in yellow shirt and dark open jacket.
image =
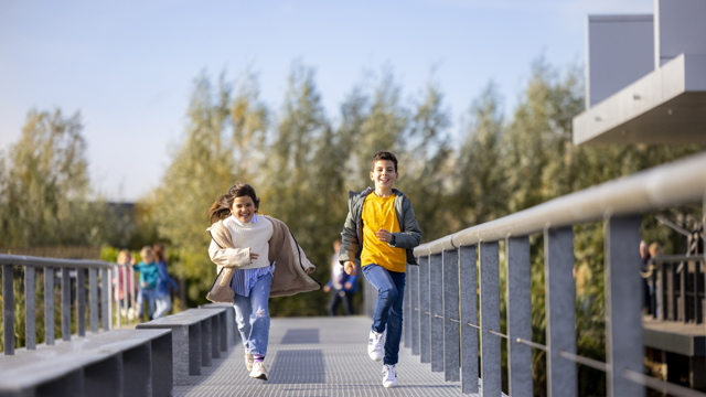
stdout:
<svg viewBox="0 0 706 397">
<path fill-rule="evenodd" d="M 375 189 L 349 192 L 339 260 L 349 275 L 357 275 L 359 260 L 365 279 L 377 290 L 367 354 L 376 362 L 383 360 L 383 386 L 395 387 L 405 269 L 407 264 L 417 265 L 413 248 L 419 245 L 421 230 L 409 198 L 393 189 L 399 176 L 395 154 L 376 152 L 370 175 Z"/>
</svg>

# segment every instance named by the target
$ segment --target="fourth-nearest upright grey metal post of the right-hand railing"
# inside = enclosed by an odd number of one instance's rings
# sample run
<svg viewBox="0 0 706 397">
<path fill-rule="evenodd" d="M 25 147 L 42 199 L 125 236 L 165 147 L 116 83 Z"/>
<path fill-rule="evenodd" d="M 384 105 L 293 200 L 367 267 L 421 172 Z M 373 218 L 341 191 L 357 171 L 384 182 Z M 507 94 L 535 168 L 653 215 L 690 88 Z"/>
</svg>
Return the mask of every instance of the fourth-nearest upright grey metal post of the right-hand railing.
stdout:
<svg viewBox="0 0 706 397">
<path fill-rule="evenodd" d="M 500 258 L 498 242 L 480 244 L 481 262 L 481 378 L 483 397 L 502 391 L 500 337 Z"/>
</svg>

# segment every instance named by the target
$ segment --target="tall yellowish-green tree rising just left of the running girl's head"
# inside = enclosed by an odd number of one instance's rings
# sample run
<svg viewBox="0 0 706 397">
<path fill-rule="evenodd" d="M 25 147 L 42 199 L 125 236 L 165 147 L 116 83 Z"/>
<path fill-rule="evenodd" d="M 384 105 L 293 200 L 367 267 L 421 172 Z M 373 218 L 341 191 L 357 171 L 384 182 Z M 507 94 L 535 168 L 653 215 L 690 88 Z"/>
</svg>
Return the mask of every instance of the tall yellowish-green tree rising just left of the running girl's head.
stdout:
<svg viewBox="0 0 706 397">
<path fill-rule="evenodd" d="M 236 180 L 233 144 L 226 136 L 231 92 L 224 75 L 215 88 L 205 73 L 194 81 L 183 141 L 160 185 L 140 203 L 160 238 L 178 251 L 172 271 L 191 281 L 189 299 L 201 303 L 216 270 L 207 253 L 207 211 Z"/>
</svg>

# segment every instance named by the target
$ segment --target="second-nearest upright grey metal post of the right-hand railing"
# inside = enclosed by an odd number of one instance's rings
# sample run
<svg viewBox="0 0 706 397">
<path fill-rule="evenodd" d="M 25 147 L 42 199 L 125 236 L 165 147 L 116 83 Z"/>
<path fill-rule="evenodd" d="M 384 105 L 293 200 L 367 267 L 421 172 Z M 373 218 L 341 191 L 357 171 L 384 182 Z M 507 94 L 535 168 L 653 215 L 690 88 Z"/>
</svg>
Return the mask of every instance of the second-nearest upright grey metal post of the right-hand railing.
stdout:
<svg viewBox="0 0 706 397">
<path fill-rule="evenodd" d="M 571 227 L 546 228 L 544 250 L 547 396 L 571 397 L 578 393 L 576 364 L 559 356 L 560 351 L 576 354 L 576 282 Z"/>
</svg>

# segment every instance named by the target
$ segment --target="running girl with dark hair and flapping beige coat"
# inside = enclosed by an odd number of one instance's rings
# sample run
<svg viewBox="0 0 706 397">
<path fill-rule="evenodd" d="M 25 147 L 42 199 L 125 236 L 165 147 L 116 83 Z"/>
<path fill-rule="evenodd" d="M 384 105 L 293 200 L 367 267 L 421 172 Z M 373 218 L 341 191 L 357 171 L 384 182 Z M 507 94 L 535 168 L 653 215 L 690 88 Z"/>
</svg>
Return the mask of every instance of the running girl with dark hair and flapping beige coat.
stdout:
<svg viewBox="0 0 706 397">
<path fill-rule="evenodd" d="M 237 183 L 208 210 L 208 255 L 218 266 L 218 276 L 206 298 L 233 304 L 245 347 L 245 365 L 250 377 L 267 380 L 268 299 L 313 291 L 321 286 L 309 277 L 315 267 L 287 225 L 258 215 L 259 204 L 253 186 Z"/>
</svg>

